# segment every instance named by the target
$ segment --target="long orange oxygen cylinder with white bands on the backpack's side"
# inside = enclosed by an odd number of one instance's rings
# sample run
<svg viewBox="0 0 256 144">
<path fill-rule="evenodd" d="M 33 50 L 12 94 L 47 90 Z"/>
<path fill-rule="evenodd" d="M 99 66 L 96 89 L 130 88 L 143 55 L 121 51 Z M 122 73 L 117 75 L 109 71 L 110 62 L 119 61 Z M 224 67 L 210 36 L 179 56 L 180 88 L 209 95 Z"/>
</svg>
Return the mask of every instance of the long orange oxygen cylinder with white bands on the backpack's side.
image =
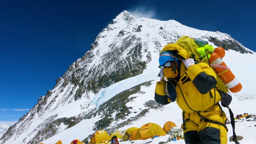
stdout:
<svg viewBox="0 0 256 144">
<path fill-rule="evenodd" d="M 209 61 L 211 64 L 216 64 L 216 65 L 221 65 L 221 66 L 227 67 L 225 62 L 215 52 L 212 53 Z M 231 72 L 230 69 L 218 68 L 218 67 L 213 67 L 213 69 L 216 71 L 218 76 L 220 76 L 220 78 L 224 82 L 224 84 L 227 85 L 230 92 L 236 93 L 236 92 L 241 91 L 242 84 L 239 83 L 239 81 L 236 79 L 236 76 L 234 76 L 234 74 Z"/>
</svg>

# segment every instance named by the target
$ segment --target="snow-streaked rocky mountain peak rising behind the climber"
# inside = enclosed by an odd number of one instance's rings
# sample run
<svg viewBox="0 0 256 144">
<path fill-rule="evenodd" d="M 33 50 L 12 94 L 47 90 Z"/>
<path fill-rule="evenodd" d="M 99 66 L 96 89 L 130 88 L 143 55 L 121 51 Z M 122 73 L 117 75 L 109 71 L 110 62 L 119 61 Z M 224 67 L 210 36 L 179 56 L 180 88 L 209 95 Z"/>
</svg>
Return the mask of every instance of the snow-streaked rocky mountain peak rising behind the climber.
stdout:
<svg viewBox="0 0 256 144">
<path fill-rule="evenodd" d="M 100 129 L 109 133 L 125 130 L 139 120 L 146 122 L 143 117 L 152 109 L 164 108 L 153 100 L 159 52 L 181 36 L 255 54 L 228 34 L 121 12 L 99 33 L 91 49 L 56 80 L 53 89 L 8 129 L 0 143 L 37 144 L 55 139 L 70 143 L 68 136 L 84 140 Z"/>
</svg>

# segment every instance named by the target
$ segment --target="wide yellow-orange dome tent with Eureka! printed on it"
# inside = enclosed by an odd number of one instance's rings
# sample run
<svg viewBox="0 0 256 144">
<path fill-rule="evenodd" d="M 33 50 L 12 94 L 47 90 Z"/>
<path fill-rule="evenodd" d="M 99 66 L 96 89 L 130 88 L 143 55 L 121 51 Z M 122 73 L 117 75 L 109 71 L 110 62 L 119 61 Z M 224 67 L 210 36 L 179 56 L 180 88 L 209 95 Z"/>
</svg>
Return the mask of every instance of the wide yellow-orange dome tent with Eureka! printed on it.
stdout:
<svg viewBox="0 0 256 144">
<path fill-rule="evenodd" d="M 152 138 L 153 136 L 163 136 L 166 135 L 163 128 L 158 124 L 147 123 L 142 125 L 139 129 L 133 130 L 130 137 L 131 140 L 146 140 Z M 129 140 L 130 140 L 129 139 Z"/>
</svg>

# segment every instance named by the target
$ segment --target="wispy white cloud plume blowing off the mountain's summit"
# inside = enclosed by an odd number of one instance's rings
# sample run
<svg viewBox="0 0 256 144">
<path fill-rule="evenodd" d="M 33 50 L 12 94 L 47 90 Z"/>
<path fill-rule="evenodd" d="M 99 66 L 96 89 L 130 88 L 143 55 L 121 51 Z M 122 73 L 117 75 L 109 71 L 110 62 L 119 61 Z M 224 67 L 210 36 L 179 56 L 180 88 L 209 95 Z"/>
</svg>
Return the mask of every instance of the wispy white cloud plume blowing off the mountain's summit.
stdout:
<svg viewBox="0 0 256 144">
<path fill-rule="evenodd" d="M 133 8 L 132 10 L 130 10 L 128 12 L 130 12 L 134 17 L 137 17 L 137 18 L 144 17 L 144 18 L 152 19 L 156 16 L 156 11 L 154 10 L 154 8 L 148 9 L 143 6 Z"/>
</svg>

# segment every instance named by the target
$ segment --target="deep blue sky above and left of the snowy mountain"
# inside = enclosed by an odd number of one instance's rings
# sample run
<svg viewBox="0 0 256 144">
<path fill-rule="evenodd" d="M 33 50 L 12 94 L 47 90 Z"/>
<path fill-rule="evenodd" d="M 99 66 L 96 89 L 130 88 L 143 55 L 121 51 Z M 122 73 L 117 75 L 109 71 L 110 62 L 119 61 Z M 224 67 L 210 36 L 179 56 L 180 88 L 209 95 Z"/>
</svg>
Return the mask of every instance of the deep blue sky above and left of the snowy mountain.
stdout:
<svg viewBox="0 0 256 144">
<path fill-rule="evenodd" d="M 0 121 L 18 121 L 124 10 L 229 34 L 256 52 L 255 1 L 0 1 Z"/>
</svg>

